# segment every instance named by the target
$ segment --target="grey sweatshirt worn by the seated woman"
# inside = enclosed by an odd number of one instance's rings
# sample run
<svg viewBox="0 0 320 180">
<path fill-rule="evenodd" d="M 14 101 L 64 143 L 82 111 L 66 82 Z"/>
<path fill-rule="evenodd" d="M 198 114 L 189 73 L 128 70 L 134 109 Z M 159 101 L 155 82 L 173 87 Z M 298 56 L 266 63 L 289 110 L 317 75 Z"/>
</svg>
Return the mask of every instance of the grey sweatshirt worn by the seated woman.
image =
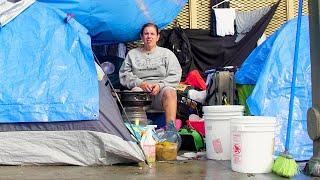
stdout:
<svg viewBox="0 0 320 180">
<path fill-rule="evenodd" d="M 143 52 L 135 48 L 128 52 L 120 71 L 120 83 L 132 89 L 143 81 L 158 83 L 160 89 L 165 86 L 176 87 L 181 79 L 181 66 L 172 51 L 156 47 L 153 52 Z"/>
</svg>

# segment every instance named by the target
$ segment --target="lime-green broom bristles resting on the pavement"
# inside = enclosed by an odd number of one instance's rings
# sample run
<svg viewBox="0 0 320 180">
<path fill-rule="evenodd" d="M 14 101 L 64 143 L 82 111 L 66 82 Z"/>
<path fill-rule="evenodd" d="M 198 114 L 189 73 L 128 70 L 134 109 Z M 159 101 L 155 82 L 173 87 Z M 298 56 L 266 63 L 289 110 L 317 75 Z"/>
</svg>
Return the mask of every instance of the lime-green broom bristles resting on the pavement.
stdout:
<svg viewBox="0 0 320 180">
<path fill-rule="evenodd" d="M 283 177 L 293 177 L 299 172 L 298 164 L 289 155 L 280 155 L 274 162 L 272 171 Z"/>
</svg>

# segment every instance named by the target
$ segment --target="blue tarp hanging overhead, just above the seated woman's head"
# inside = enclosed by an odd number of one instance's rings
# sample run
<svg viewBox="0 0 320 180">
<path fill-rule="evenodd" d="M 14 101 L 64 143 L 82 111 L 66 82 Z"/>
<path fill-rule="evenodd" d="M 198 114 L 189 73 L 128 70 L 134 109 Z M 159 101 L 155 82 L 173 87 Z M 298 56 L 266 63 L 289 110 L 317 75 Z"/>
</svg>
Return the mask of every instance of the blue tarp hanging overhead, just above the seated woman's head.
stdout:
<svg viewBox="0 0 320 180">
<path fill-rule="evenodd" d="M 38 0 L 75 15 L 93 44 L 111 44 L 139 39 L 143 24 L 160 29 L 171 23 L 187 0 Z"/>
</svg>

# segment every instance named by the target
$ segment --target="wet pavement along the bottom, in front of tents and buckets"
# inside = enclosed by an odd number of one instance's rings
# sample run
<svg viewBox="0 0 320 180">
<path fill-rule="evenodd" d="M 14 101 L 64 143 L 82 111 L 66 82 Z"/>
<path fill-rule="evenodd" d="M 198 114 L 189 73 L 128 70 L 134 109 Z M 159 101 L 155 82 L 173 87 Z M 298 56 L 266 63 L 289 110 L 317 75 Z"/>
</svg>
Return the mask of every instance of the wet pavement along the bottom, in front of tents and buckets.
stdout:
<svg viewBox="0 0 320 180">
<path fill-rule="evenodd" d="M 0 166 L 0 179 L 285 179 L 269 174 L 244 174 L 231 170 L 230 161 L 193 160 L 147 165 Z M 303 174 L 293 179 L 314 179 Z"/>
</svg>

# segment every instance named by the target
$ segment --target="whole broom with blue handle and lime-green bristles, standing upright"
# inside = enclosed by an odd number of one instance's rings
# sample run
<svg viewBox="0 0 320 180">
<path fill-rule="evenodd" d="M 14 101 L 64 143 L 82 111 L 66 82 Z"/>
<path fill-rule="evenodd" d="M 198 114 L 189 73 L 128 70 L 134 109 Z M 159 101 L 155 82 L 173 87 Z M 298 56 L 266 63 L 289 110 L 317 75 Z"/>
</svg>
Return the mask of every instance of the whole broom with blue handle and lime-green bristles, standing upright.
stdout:
<svg viewBox="0 0 320 180">
<path fill-rule="evenodd" d="M 296 43 L 294 49 L 294 59 L 293 59 L 293 74 L 291 82 L 291 93 L 289 101 L 289 115 L 288 115 L 288 127 L 286 134 L 286 144 L 285 151 L 279 155 L 273 164 L 272 171 L 280 176 L 284 177 L 293 177 L 298 174 L 298 164 L 289 154 L 289 144 L 291 137 L 291 124 L 292 124 L 292 115 L 293 115 L 293 103 L 294 103 L 294 94 L 296 88 L 296 74 L 297 74 L 297 64 L 298 64 L 298 50 L 300 43 L 300 26 L 301 26 L 301 16 L 302 16 L 302 5 L 303 0 L 299 0 L 299 11 L 298 11 L 298 20 L 297 20 L 297 34 L 296 34 Z"/>
</svg>

